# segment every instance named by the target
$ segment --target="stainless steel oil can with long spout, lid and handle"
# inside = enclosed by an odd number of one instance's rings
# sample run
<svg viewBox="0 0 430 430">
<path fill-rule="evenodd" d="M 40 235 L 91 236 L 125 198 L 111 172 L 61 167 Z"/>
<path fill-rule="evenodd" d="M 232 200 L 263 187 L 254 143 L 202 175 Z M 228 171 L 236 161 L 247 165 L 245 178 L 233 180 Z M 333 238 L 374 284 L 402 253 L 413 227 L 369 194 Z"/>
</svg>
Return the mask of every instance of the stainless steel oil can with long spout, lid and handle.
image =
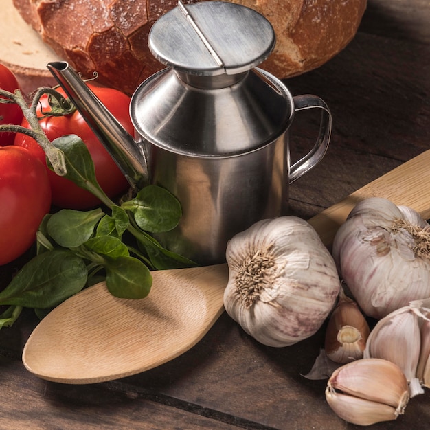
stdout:
<svg viewBox="0 0 430 430">
<path fill-rule="evenodd" d="M 289 185 L 324 157 L 330 111 L 314 95 L 293 98 L 256 67 L 271 54 L 275 34 L 244 6 L 179 3 L 152 26 L 148 43 L 167 68 L 132 97 L 133 142 L 113 133 L 109 118 L 102 124 L 100 102 L 65 82 L 63 71 L 59 81 L 93 128 L 108 135 L 106 146 L 128 177 L 146 177 L 181 202 L 183 218 L 158 237 L 163 245 L 201 264 L 223 262 L 234 234 L 286 213 Z M 321 109 L 319 135 L 290 166 L 288 130 L 296 111 L 311 108 Z"/>
</svg>

